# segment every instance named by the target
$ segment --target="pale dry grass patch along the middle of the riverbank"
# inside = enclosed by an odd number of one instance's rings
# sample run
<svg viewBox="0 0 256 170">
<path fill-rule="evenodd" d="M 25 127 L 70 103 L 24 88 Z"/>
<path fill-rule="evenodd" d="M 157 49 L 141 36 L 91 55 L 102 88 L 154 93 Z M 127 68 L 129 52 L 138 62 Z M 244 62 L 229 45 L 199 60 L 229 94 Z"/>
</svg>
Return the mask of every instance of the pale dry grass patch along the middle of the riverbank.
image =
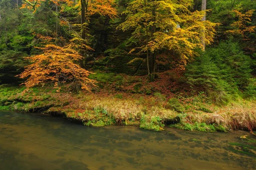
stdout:
<svg viewBox="0 0 256 170">
<path fill-rule="evenodd" d="M 75 102 L 74 102 L 75 101 Z M 157 107 L 157 106 L 158 107 Z M 85 112 L 86 110 L 95 110 L 96 108 L 105 109 L 111 113 L 115 119 L 139 120 L 141 115 L 159 116 L 160 118 L 171 118 L 177 115 L 176 112 L 170 109 L 164 109 L 162 104 L 151 97 L 143 98 L 113 98 L 113 95 L 102 96 L 93 94 L 83 94 L 79 98 L 73 100 L 70 108 L 76 108 L 77 112 Z"/>
</svg>

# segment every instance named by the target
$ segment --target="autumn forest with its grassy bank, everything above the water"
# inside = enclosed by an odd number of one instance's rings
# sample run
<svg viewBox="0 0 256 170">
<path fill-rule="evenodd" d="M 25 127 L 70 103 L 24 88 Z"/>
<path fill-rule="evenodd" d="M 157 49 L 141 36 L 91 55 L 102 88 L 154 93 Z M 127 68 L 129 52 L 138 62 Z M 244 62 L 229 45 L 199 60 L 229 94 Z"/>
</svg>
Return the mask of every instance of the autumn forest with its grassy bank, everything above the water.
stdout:
<svg viewBox="0 0 256 170">
<path fill-rule="evenodd" d="M 256 0 L 0 0 L 0 110 L 256 130 Z"/>
</svg>

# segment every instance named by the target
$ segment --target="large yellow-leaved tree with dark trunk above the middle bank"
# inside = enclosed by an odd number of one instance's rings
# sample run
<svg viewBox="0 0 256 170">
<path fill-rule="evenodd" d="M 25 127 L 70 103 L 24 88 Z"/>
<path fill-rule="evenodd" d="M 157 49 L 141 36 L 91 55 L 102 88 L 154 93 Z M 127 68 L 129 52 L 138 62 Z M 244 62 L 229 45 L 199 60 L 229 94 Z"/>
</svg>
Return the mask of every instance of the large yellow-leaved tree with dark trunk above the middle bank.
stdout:
<svg viewBox="0 0 256 170">
<path fill-rule="evenodd" d="M 190 12 L 192 0 L 134 0 L 123 12 L 126 20 L 119 29 L 133 29 L 128 40 L 131 52 L 146 52 L 148 76 L 154 80 L 157 54 L 164 50 L 186 62 L 196 55 L 194 49 L 212 42 L 216 23 L 202 21 L 204 11 Z M 203 32 L 204 31 L 204 32 Z M 205 33 L 205 36 L 203 36 Z M 201 39 L 203 37 L 203 39 Z M 170 57 L 171 55 L 169 55 Z"/>
</svg>

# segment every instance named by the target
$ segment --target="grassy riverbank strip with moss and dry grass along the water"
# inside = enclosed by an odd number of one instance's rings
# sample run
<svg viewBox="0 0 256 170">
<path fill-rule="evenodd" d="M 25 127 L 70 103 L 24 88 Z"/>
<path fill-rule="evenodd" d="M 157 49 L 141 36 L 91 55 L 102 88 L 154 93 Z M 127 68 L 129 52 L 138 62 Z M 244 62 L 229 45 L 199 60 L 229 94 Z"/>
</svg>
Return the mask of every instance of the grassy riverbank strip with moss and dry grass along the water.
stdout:
<svg viewBox="0 0 256 170">
<path fill-rule="evenodd" d="M 194 98 L 166 98 L 160 93 L 107 94 L 56 92 L 52 87 L 32 88 L 2 85 L 0 110 L 42 112 L 64 116 L 86 126 L 139 125 L 143 129 L 161 131 L 166 126 L 190 131 L 229 131 L 256 128 L 256 104 L 231 102 L 219 107 Z M 196 99 L 196 100 L 195 100 Z"/>
</svg>

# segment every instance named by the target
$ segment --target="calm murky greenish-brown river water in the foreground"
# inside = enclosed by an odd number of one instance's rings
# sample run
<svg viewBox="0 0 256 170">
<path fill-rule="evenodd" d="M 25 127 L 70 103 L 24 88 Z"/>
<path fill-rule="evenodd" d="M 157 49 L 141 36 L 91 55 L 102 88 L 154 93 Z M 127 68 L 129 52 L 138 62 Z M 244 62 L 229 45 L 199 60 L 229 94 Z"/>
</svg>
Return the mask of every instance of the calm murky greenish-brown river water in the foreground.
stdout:
<svg viewBox="0 0 256 170">
<path fill-rule="evenodd" d="M 256 170 L 256 136 L 84 127 L 0 111 L 0 170 Z"/>
</svg>

